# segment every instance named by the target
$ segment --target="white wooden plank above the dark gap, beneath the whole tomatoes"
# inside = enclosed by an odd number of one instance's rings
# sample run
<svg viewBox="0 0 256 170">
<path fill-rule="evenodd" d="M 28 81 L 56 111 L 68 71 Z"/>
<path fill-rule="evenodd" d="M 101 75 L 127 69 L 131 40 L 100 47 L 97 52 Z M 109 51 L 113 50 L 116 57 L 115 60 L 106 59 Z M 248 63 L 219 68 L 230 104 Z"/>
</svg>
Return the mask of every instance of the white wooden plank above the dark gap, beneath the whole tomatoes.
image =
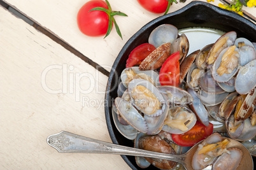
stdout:
<svg viewBox="0 0 256 170">
<path fill-rule="evenodd" d="M 71 46 L 83 53 L 83 55 L 94 60 L 108 71 L 117 57 L 118 53 L 124 46 L 125 42 L 136 33 L 143 25 L 150 22 L 154 18 L 162 14 L 154 14 L 142 8 L 138 1 L 120 1 L 109 0 L 113 10 L 118 10 L 126 13 L 129 17 L 116 16 L 118 25 L 123 35 L 123 40 L 120 39 L 113 28 L 110 36 L 106 39 L 103 37 L 90 38 L 83 35 L 76 25 L 76 14 L 80 7 L 89 0 L 4 0 L 27 16 L 39 22 L 50 31 L 54 32 L 60 38 L 67 41 Z M 176 11 L 192 0 L 187 0 L 186 3 L 173 4 L 169 12 Z M 202 0 L 206 2 L 206 0 Z M 211 2 L 218 6 L 220 1 Z M 250 9 L 250 12 L 256 16 L 256 10 Z M 131 27 L 132 25 L 132 27 Z"/>
</svg>

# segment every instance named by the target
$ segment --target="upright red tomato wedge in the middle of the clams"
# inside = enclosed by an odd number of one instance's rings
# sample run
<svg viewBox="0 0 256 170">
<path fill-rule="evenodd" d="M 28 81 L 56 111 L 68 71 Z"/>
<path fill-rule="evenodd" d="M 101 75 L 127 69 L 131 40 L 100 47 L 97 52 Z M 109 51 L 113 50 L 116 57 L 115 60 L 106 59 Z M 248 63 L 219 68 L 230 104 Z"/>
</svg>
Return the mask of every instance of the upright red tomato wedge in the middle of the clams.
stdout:
<svg viewBox="0 0 256 170">
<path fill-rule="evenodd" d="M 173 85 L 178 87 L 180 83 L 180 52 L 171 54 L 162 64 L 159 73 L 161 85 Z"/>
</svg>

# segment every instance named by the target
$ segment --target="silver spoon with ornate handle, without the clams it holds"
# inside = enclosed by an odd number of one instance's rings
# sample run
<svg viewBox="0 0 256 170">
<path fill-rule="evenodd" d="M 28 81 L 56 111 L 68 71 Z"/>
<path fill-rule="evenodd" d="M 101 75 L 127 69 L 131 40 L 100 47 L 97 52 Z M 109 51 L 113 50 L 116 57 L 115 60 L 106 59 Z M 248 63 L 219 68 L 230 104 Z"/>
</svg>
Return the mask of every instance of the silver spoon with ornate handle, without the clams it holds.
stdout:
<svg viewBox="0 0 256 170">
<path fill-rule="evenodd" d="M 229 146 L 239 148 L 243 152 L 243 158 L 239 164 L 238 170 L 253 169 L 253 160 L 250 152 L 236 140 L 230 139 Z M 157 159 L 173 160 L 182 164 L 185 169 L 192 169 L 192 157 L 200 143 L 194 145 L 187 153 L 182 155 L 171 155 L 167 153 L 151 152 L 140 150 L 127 146 L 115 145 L 99 141 L 97 139 L 87 138 L 66 131 L 58 134 L 52 134 L 47 138 L 48 145 L 55 148 L 58 152 L 64 153 L 110 153 L 117 155 L 132 155 L 138 157 L 152 157 Z"/>
</svg>

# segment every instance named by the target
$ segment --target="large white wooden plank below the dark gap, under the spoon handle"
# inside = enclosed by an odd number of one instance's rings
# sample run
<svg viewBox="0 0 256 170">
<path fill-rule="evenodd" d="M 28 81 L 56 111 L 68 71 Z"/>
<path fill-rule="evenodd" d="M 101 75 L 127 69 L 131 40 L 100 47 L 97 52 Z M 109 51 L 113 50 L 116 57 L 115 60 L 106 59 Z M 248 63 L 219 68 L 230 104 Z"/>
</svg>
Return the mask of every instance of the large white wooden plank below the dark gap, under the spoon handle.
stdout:
<svg viewBox="0 0 256 170">
<path fill-rule="evenodd" d="M 1 6 L 0 16 L 0 169 L 130 169 L 119 155 L 47 145 L 60 131 L 111 142 L 97 104 L 108 77 Z"/>
</svg>

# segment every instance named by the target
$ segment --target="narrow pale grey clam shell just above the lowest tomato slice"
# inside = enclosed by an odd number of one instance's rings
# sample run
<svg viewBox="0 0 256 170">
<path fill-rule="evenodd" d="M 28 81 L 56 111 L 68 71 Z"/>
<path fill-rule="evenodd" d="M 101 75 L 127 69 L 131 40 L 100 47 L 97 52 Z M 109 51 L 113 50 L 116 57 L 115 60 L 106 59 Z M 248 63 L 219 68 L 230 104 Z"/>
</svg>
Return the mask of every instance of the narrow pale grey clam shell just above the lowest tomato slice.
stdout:
<svg viewBox="0 0 256 170">
<path fill-rule="evenodd" d="M 201 100 L 199 99 L 197 92 L 188 88 L 188 93 L 191 94 L 191 96 L 194 99 L 192 104 L 190 104 L 191 110 L 194 111 L 194 113 L 196 113 L 197 117 L 199 118 L 200 122 L 202 122 L 202 124 L 208 126 L 208 111 L 204 107 L 203 103 L 201 103 Z"/>
</svg>

